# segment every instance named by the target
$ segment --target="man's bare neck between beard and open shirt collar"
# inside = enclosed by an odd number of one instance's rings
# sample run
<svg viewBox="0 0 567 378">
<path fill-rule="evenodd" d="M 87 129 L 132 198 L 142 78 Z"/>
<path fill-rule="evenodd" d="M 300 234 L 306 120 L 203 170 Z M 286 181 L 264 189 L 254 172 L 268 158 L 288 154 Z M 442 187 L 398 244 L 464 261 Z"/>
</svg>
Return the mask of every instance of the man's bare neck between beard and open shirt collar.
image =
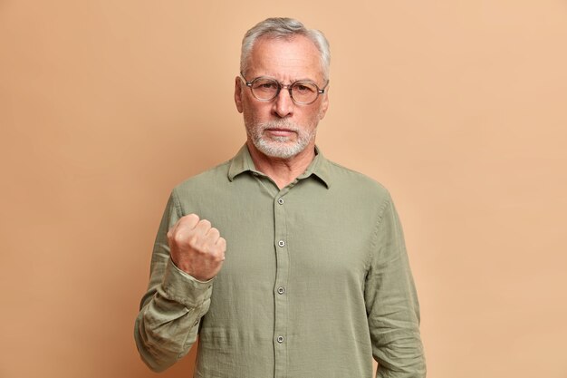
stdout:
<svg viewBox="0 0 567 378">
<path fill-rule="evenodd" d="M 251 141 L 246 142 L 255 169 L 273 179 L 279 189 L 293 182 L 315 158 L 315 146 L 310 143 L 305 150 L 289 159 L 273 158 L 256 149 Z"/>
</svg>

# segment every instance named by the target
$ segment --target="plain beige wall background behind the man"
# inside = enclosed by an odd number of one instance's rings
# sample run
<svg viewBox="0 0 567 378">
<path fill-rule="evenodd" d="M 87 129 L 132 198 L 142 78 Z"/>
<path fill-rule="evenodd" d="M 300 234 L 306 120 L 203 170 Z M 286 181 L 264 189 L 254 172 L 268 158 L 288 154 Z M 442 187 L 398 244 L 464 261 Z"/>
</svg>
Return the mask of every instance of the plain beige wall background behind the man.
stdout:
<svg viewBox="0 0 567 378">
<path fill-rule="evenodd" d="M 0 377 L 155 376 L 132 325 L 161 211 L 243 143 L 239 44 L 272 15 L 331 41 L 319 144 L 397 202 L 428 376 L 567 377 L 567 3 L 331 7 L 0 0 Z"/>
</svg>

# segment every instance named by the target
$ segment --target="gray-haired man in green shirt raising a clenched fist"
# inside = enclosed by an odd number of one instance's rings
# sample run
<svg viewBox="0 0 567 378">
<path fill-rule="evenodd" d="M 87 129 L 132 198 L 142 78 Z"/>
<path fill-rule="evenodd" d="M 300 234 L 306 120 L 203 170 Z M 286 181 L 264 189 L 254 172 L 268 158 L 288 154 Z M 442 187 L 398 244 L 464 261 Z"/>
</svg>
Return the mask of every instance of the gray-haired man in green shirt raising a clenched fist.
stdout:
<svg viewBox="0 0 567 378">
<path fill-rule="evenodd" d="M 386 189 L 326 160 L 329 45 L 271 18 L 242 44 L 235 158 L 180 184 L 135 337 L 155 371 L 197 340 L 195 377 L 424 377 L 418 299 Z"/>
</svg>

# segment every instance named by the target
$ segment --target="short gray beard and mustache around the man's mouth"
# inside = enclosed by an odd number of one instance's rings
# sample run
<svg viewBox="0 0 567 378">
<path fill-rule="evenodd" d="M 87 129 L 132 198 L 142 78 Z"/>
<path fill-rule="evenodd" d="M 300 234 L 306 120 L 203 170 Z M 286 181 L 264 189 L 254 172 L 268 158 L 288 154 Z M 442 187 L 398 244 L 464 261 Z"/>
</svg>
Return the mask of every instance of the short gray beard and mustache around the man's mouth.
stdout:
<svg viewBox="0 0 567 378">
<path fill-rule="evenodd" d="M 298 127 L 292 121 L 268 121 L 263 123 L 246 124 L 246 132 L 256 149 L 260 150 L 264 155 L 272 158 L 290 159 L 298 153 L 305 150 L 310 141 L 315 138 L 317 129 L 305 131 Z M 293 144 L 289 144 L 287 137 L 264 137 L 264 131 L 271 128 L 284 128 L 294 131 L 297 134 L 297 140 Z"/>
</svg>

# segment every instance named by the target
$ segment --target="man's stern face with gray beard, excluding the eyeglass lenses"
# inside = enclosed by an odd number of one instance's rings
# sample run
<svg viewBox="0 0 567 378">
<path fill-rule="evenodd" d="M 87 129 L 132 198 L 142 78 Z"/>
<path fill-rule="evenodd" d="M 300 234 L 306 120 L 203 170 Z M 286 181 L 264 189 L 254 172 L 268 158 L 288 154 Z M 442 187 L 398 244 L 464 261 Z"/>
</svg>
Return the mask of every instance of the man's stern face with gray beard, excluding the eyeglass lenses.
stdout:
<svg viewBox="0 0 567 378">
<path fill-rule="evenodd" d="M 290 40 L 260 38 L 256 41 L 244 73 L 247 81 L 268 76 L 283 84 L 311 80 L 325 86 L 320 53 L 306 37 Z M 309 105 L 296 104 L 286 89 L 268 102 L 255 99 L 240 78 L 235 82 L 235 103 L 244 113 L 248 145 L 272 158 L 290 159 L 313 149 L 319 120 L 328 107 L 327 94 Z M 252 142 L 252 143 L 250 143 Z"/>
</svg>

